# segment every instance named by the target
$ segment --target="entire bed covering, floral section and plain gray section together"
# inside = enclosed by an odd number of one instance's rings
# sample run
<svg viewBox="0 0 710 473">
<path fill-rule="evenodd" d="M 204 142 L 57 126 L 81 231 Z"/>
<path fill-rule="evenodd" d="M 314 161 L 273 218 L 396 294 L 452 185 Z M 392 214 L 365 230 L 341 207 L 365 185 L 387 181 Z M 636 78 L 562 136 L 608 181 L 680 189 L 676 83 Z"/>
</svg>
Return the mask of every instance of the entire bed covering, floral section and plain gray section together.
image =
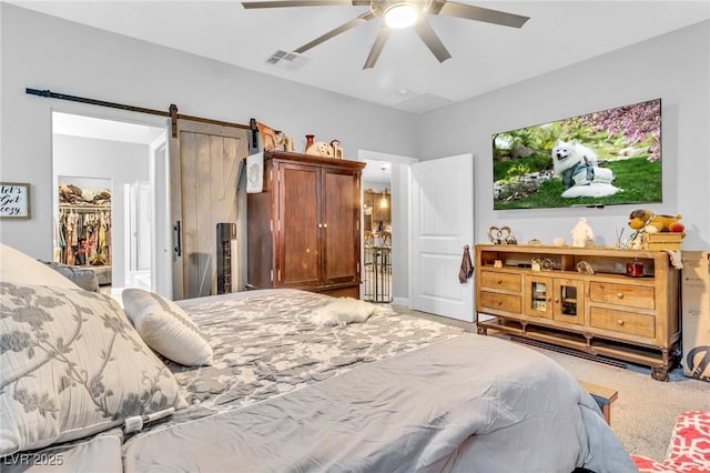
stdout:
<svg viewBox="0 0 710 473">
<path fill-rule="evenodd" d="M 165 361 L 189 407 L 136 434 L 54 446 L 52 471 L 637 471 L 591 397 L 542 354 L 389 310 L 321 326 L 312 314 L 329 300 L 287 290 L 181 302 L 214 349 L 213 366 Z"/>
</svg>

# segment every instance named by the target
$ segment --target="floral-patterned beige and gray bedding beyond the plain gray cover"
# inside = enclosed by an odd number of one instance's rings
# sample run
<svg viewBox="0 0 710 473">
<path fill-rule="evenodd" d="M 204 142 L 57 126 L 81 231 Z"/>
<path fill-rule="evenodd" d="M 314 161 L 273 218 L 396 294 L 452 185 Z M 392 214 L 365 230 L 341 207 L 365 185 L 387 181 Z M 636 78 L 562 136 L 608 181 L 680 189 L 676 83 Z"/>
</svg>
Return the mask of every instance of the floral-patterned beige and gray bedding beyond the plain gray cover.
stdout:
<svg viewBox="0 0 710 473">
<path fill-rule="evenodd" d="M 212 366 L 185 368 L 165 360 L 184 390 L 190 415 L 243 407 L 463 333 L 386 308 L 366 323 L 314 323 L 313 312 L 332 300 L 280 290 L 182 301 L 214 350 Z"/>
</svg>

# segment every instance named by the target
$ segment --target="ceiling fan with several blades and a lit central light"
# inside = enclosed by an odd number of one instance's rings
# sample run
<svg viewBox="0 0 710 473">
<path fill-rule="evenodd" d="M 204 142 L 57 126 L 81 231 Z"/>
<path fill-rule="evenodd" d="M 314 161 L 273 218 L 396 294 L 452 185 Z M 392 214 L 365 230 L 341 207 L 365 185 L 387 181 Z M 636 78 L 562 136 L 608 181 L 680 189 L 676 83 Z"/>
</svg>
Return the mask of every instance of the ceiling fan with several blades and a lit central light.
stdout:
<svg viewBox="0 0 710 473">
<path fill-rule="evenodd" d="M 382 27 L 369 50 L 363 69 L 371 69 L 377 62 L 390 29 L 413 27 L 417 36 L 429 48 L 432 53 L 444 62 L 452 57 L 439 37 L 426 21 L 427 14 L 445 14 L 448 17 L 464 18 L 467 20 L 485 21 L 487 23 L 501 24 L 504 27 L 520 28 L 528 17 L 506 13 L 473 4 L 457 3 L 447 0 L 290 0 L 290 1 L 243 1 L 246 9 L 256 8 L 284 8 L 284 7 L 324 7 L 324 6 L 353 6 L 369 7 L 365 13 L 354 18 L 337 28 L 320 36 L 313 41 L 303 44 L 294 52 L 303 53 L 349 29 L 376 18 L 383 19 Z"/>
</svg>

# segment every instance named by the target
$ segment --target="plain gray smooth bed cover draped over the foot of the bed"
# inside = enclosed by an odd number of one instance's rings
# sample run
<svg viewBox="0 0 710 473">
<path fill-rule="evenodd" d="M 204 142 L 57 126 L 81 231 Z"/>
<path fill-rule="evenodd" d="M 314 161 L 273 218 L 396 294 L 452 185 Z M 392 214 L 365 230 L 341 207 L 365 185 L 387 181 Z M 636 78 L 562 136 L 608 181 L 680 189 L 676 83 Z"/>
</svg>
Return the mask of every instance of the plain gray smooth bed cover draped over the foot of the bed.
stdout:
<svg viewBox="0 0 710 473">
<path fill-rule="evenodd" d="M 124 470 L 151 472 L 636 471 L 559 365 L 474 334 L 247 407 L 143 434 Z"/>
</svg>

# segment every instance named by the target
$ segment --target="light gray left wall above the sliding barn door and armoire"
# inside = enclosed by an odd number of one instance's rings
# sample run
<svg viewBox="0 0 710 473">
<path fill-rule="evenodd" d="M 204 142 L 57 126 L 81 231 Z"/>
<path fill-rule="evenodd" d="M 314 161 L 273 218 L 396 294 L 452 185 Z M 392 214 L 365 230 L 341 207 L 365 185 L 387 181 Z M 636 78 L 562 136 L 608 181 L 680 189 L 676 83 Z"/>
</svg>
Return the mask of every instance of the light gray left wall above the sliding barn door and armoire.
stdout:
<svg viewBox="0 0 710 473">
<path fill-rule="evenodd" d="M 32 219 L 3 220 L 0 241 L 50 259 L 51 111 L 164 127 L 165 119 L 44 99 L 26 88 L 284 130 L 359 149 L 414 154 L 417 115 L 0 3 L 0 178 L 32 183 Z M 138 117 L 136 117 L 138 115 Z M 377 117 L 378 120 L 373 120 Z"/>
</svg>

